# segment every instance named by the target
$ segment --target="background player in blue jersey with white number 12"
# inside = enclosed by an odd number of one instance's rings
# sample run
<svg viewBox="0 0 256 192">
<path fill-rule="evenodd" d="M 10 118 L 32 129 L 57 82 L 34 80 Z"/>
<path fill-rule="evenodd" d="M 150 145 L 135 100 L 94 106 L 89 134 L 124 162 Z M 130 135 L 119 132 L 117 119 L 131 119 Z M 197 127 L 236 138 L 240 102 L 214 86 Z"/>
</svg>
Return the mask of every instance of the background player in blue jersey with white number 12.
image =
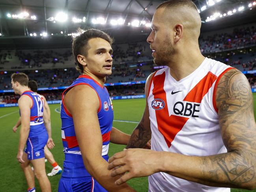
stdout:
<svg viewBox="0 0 256 192">
<path fill-rule="evenodd" d="M 24 73 L 13 73 L 11 84 L 15 94 L 21 95 L 18 104 L 21 115 L 21 130 L 17 160 L 24 171 L 28 191 L 34 190 L 34 173 L 39 181 L 41 191 L 50 192 L 50 182 L 45 173 L 44 147 L 52 147 L 52 140 L 48 140 L 47 131 L 49 119 L 41 98 L 28 88 L 28 76 Z M 45 123 L 45 125 L 44 125 Z M 47 128 L 47 129 L 45 129 Z M 26 144 L 26 153 L 23 152 Z M 29 166 L 34 167 L 34 173 Z"/>
</svg>

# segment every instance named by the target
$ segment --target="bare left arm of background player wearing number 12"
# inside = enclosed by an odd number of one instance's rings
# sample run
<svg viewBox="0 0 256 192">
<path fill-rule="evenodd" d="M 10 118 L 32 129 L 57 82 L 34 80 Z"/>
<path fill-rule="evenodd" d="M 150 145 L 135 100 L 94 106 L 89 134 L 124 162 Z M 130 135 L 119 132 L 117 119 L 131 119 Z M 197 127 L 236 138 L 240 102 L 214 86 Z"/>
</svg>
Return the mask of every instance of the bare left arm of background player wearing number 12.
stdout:
<svg viewBox="0 0 256 192">
<path fill-rule="evenodd" d="M 23 163 L 22 154 L 30 131 L 30 107 L 32 106 L 32 100 L 27 95 L 22 95 L 18 104 L 21 112 L 21 130 L 17 159 Z"/>
</svg>

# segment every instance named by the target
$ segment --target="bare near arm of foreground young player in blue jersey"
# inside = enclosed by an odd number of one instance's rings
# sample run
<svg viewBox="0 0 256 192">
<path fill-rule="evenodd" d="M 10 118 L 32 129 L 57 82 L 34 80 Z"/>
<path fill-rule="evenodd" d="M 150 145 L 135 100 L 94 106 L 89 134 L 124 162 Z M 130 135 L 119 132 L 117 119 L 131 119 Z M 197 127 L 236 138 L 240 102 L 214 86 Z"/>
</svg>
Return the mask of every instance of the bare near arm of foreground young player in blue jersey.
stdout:
<svg viewBox="0 0 256 192">
<path fill-rule="evenodd" d="M 94 89 L 78 85 L 67 92 L 64 102 L 73 116 L 75 133 L 86 170 L 108 191 L 134 191 L 127 184 L 115 185 L 118 177 L 110 177 L 108 162 L 101 156 L 102 136 L 97 116 L 99 99 Z"/>
</svg>

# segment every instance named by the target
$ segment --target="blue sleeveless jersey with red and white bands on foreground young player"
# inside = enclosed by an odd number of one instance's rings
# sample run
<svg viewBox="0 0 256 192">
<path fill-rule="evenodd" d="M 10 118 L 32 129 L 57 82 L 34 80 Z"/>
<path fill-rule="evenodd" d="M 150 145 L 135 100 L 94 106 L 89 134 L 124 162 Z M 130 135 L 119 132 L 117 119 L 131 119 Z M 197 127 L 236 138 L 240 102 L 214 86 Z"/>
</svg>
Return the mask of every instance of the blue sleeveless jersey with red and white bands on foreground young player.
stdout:
<svg viewBox="0 0 256 192">
<path fill-rule="evenodd" d="M 102 157 L 108 160 L 108 146 L 110 142 L 110 132 L 114 118 L 113 106 L 108 91 L 90 76 L 80 75 L 72 84 L 62 93 L 61 119 L 62 119 L 62 143 L 64 147 L 65 160 L 62 177 L 87 177 L 91 175 L 86 170 L 82 155 L 75 135 L 75 128 L 71 114 L 65 108 L 63 99 L 65 93 L 74 86 L 88 85 L 93 88 L 99 97 L 98 119 L 102 134 Z M 85 96 L 86 97 L 86 96 Z M 86 126 L 86 125 L 84 125 Z M 92 144 L 93 145 L 93 144 Z M 90 147 L 90 146 L 88 146 Z"/>
</svg>

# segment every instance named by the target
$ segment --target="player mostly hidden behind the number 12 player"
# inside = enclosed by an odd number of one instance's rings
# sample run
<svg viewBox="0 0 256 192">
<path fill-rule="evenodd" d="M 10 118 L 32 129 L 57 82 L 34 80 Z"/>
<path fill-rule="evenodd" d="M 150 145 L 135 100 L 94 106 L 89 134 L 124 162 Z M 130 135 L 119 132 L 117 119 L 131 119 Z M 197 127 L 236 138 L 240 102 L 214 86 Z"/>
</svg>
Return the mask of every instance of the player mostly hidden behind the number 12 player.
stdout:
<svg viewBox="0 0 256 192">
<path fill-rule="evenodd" d="M 28 82 L 28 88 L 33 91 L 34 93 L 38 94 L 37 93 L 37 89 L 38 89 L 38 86 L 37 86 L 37 82 L 34 81 L 34 80 L 30 80 Z M 49 108 L 49 105 L 45 99 L 45 97 L 43 95 L 40 95 L 38 94 L 39 97 L 41 97 L 42 101 L 43 101 L 43 104 L 45 106 L 45 110 L 47 111 L 47 114 L 48 114 L 48 118 L 49 118 L 49 127 L 51 128 L 50 126 L 50 108 Z M 16 125 L 13 127 L 13 132 L 16 132 L 18 127 L 21 125 L 21 117 L 19 118 L 19 120 L 17 121 Z M 51 129 L 50 129 L 51 130 Z M 51 131 L 50 131 L 51 132 Z M 51 137 L 49 136 L 49 139 Z M 44 151 L 45 151 L 45 158 L 49 161 L 49 163 L 52 165 L 52 171 L 50 173 L 48 173 L 47 175 L 48 176 L 54 176 L 54 175 L 57 175 L 57 174 L 60 174 L 62 173 L 62 168 L 57 164 L 57 162 L 54 160 L 54 157 L 52 155 L 52 153 L 50 152 L 50 150 L 48 149 L 47 145 L 45 145 L 45 148 L 44 148 Z M 33 169 L 33 168 L 32 168 Z"/>
</svg>

